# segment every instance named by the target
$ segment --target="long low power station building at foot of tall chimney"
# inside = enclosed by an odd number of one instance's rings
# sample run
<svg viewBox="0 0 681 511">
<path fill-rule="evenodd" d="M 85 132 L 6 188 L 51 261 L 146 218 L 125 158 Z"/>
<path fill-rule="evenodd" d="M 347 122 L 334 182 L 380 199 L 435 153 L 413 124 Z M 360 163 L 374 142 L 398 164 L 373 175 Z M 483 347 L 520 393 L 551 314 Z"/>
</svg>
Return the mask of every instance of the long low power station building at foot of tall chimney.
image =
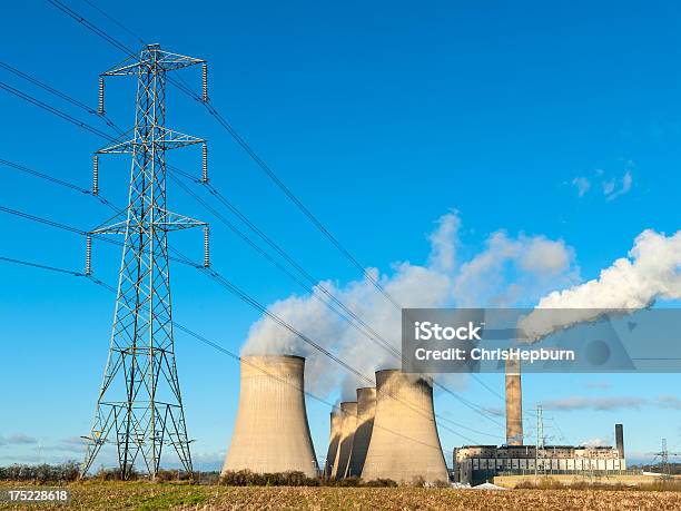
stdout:
<svg viewBox="0 0 681 511">
<path fill-rule="evenodd" d="M 616 446 L 464 445 L 454 450 L 454 481 L 478 484 L 495 475 L 620 473 L 626 469 L 622 424 Z"/>
</svg>

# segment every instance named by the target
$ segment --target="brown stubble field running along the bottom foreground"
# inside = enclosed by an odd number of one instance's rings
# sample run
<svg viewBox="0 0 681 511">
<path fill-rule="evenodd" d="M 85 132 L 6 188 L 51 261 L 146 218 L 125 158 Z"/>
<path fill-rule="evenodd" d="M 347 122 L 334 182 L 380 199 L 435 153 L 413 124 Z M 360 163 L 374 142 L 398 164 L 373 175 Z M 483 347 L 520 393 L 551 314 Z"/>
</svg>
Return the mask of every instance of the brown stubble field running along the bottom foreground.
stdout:
<svg viewBox="0 0 681 511">
<path fill-rule="evenodd" d="M 0 483 L 0 489 L 16 488 Z M 36 487 L 23 487 L 36 489 Z M 88 482 L 67 487 L 70 505 L 0 504 L 0 509 L 61 510 L 672 510 L 680 494 L 668 491 L 509 490 L 423 488 L 235 488 Z"/>
</svg>

